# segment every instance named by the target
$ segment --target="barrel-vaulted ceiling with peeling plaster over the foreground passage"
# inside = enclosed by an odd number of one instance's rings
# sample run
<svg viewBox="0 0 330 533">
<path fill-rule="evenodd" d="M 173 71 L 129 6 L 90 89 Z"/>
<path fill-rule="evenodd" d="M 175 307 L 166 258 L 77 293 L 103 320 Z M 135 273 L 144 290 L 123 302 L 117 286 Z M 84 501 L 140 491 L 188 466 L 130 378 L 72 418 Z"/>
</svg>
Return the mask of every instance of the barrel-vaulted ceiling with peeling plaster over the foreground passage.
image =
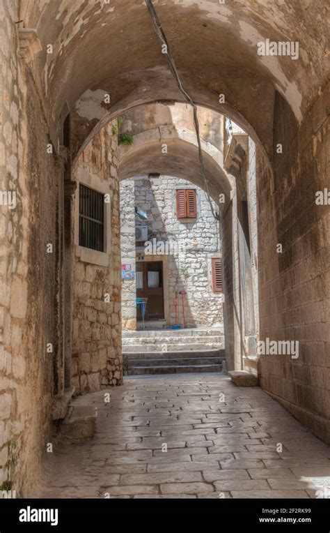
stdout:
<svg viewBox="0 0 330 533">
<path fill-rule="evenodd" d="M 329 75 L 325 0 L 155 0 L 186 90 L 272 153 L 275 91 L 301 122 Z M 74 153 L 111 117 L 180 101 L 143 0 L 22 0 L 42 44 L 35 68 L 52 135 L 72 114 Z M 299 42 L 299 58 L 260 56 L 258 42 Z M 47 53 L 47 45 L 52 53 Z M 104 103 L 104 94 L 110 103 Z M 219 103 L 219 94 L 225 103 Z"/>
</svg>

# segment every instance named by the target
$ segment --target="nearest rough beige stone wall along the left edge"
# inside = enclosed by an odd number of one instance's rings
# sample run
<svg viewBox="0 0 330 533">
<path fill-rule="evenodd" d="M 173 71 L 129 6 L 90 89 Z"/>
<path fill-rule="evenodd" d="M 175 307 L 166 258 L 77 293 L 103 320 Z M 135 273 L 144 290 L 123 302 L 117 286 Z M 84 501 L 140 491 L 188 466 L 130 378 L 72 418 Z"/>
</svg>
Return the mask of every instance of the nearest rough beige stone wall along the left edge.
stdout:
<svg viewBox="0 0 330 533">
<path fill-rule="evenodd" d="M 58 392 L 58 183 L 49 130 L 33 80 L 19 59 L 17 2 L 0 10 L 1 355 L 0 485 L 33 495 Z M 48 243 L 53 253 L 47 253 Z M 47 353 L 47 343 L 53 352 Z M 54 389 L 53 389 L 54 383 Z"/>
</svg>

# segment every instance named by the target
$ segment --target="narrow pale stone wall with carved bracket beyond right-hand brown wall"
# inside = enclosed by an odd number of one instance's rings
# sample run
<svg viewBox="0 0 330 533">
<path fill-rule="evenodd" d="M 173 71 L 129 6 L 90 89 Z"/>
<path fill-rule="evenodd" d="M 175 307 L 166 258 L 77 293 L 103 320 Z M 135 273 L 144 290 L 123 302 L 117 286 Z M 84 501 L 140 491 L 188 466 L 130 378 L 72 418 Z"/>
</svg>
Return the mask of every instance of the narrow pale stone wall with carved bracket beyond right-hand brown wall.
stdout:
<svg viewBox="0 0 330 533">
<path fill-rule="evenodd" d="M 256 372 L 259 327 L 256 145 L 237 125 L 229 126 L 233 133 L 225 143 L 224 165 L 233 180 L 233 189 L 230 207 L 224 210 L 221 219 L 226 361 L 230 370 L 253 365 Z M 224 137 L 227 140 L 226 130 Z"/>
</svg>

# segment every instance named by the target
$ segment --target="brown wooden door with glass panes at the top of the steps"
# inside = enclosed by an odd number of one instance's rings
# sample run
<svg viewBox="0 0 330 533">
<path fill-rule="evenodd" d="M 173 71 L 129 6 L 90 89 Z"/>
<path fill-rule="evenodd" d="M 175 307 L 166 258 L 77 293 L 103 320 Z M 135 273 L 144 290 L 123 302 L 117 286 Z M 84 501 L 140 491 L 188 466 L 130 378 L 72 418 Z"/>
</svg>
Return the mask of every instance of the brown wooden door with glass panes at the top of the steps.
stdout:
<svg viewBox="0 0 330 533">
<path fill-rule="evenodd" d="M 164 320 L 164 272 L 162 261 L 136 264 L 136 298 L 146 298 L 145 320 Z M 142 320 L 141 306 L 136 308 L 137 320 Z"/>
</svg>

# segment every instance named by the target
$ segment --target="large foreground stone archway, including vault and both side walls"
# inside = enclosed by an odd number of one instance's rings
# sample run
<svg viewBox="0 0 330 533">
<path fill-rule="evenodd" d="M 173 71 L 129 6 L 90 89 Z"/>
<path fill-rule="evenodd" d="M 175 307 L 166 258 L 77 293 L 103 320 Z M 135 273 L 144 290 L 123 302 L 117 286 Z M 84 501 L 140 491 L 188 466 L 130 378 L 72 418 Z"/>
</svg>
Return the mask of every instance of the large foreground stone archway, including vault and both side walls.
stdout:
<svg viewBox="0 0 330 533">
<path fill-rule="evenodd" d="M 329 181 L 329 6 L 307 4 L 159 0 L 157 10 L 196 103 L 256 141 L 260 338 L 301 343 L 297 360 L 263 356 L 260 382 L 329 442 L 329 209 L 315 203 Z M 63 122 L 70 112 L 77 163 L 109 119 L 178 91 L 140 0 L 14 0 L 1 16 L 0 162 L 3 187 L 17 193 L 2 218 L 2 475 L 33 494 L 64 388 Z M 258 54 L 283 36 L 299 43 L 297 59 Z M 244 161 L 236 146 L 234 167 Z"/>
</svg>

